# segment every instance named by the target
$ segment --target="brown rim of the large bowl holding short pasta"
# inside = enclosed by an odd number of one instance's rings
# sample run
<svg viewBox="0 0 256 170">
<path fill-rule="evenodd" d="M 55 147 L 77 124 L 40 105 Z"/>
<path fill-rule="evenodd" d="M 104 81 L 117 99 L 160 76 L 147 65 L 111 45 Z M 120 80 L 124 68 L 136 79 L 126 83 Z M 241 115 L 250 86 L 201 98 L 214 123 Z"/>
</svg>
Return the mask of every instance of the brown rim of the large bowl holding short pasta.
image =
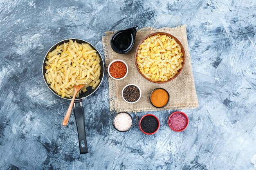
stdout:
<svg viewBox="0 0 256 170">
<path fill-rule="evenodd" d="M 171 38 L 173 38 L 173 39 L 180 45 L 181 51 L 182 51 L 182 53 L 183 53 L 183 56 L 182 56 L 182 57 L 183 57 L 182 68 L 179 70 L 179 72 L 178 72 L 173 78 L 168 79 L 168 80 L 165 81 L 165 82 L 155 82 L 155 81 L 153 81 L 153 80 L 151 80 L 151 79 L 148 79 L 147 77 L 145 77 L 145 76 L 140 72 L 140 70 L 139 70 L 139 68 L 138 68 L 138 64 L 137 64 L 137 51 L 138 51 L 138 49 L 139 49 L 139 45 L 141 44 L 141 42 L 143 42 L 144 40 L 146 40 L 148 37 L 153 36 L 153 35 L 157 35 L 157 34 L 159 34 L 159 35 L 167 35 L 167 36 L 170 36 Z M 171 35 L 171 34 L 169 34 L 169 33 L 164 33 L 164 32 L 157 32 L 157 33 L 153 33 L 153 34 L 148 35 L 148 36 L 147 36 L 146 38 L 144 38 L 141 42 L 139 43 L 139 45 L 137 46 L 137 49 L 136 49 L 136 51 L 135 51 L 135 66 L 136 66 L 137 70 L 139 71 L 139 73 L 140 73 L 145 79 L 147 79 L 148 81 L 153 82 L 153 83 L 167 83 L 167 82 L 170 82 L 171 80 L 175 79 L 175 78 L 182 72 L 183 67 L 184 67 L 184 64 L 185 64 L 185 60 L 186 60 L 186 54 L 185 54 L 185 50 L 184 50 L 182 44 L 180 43 L 180 41 L 179 41 L 177 38 L 175 38 L 173 35 Z"/>
</svg>

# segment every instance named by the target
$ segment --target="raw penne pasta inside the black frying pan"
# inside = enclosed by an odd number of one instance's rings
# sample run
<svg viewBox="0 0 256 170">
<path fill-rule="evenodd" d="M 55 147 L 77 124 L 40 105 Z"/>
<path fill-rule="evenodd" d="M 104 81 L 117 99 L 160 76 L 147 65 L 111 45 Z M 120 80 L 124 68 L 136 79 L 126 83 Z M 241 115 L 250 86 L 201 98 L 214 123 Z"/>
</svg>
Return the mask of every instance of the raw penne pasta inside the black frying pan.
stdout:
<svg viewBox="0 0 256 170">
<path fill-rule="evenodd" d="M 48 53 L 45 61 L 45 79 L 50 87 L 61 95 L 71 98 L 74 84 L 85 84 L 81 91 L 92 86 L 95 89 L 101 75 L 100 57 L 89 44 L 79 44 L 70 40 Z M 77 93 L 76 97 L 79 97 Z"/>
</svg>

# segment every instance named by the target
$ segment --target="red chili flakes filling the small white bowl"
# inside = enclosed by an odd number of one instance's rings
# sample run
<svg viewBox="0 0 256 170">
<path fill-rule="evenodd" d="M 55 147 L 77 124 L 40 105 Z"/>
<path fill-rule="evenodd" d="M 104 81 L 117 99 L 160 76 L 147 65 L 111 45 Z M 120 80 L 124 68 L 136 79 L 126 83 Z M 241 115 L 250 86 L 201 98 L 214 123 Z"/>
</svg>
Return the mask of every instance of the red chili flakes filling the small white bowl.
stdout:
<svg viewBox="0 0 256 170">
<path fill-rule="evenodd" d="M 126 75 L 127 68 L 123 62 L 113 62 L 109 68 L 110 75 L 116 79 L 121 79 Z"/>
</svg>

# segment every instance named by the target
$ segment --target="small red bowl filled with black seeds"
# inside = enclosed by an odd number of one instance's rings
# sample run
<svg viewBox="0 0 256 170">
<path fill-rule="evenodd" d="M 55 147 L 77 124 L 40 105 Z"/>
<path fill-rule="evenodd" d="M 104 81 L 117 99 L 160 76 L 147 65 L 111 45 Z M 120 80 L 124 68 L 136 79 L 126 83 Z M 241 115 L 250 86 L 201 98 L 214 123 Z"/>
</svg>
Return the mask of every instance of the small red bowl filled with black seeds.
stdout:
<svg viewBox="0 0 256 170">
<path fill-rule="evenodd" d="M 155 115 L 144 115 L 139 121 L 140 130 L 146 135 L 153 135 L 160 127 L 159 119 Z"/>
</svg>

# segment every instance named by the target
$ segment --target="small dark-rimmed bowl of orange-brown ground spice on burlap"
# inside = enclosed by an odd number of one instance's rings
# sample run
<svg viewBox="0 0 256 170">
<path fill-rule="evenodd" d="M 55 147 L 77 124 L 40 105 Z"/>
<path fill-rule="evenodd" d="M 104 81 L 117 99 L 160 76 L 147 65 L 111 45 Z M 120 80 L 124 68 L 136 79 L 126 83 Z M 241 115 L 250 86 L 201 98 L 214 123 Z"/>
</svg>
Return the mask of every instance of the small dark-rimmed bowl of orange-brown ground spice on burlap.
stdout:
<svg viewBox="0 0 256 170">
<path fill-rule="evenodd" d="M 149 100 L 156 108 L 163 108 L 169 103 L 170 95 L 164 88 L 155 88 L 150 93 Z"/>
</svg>

